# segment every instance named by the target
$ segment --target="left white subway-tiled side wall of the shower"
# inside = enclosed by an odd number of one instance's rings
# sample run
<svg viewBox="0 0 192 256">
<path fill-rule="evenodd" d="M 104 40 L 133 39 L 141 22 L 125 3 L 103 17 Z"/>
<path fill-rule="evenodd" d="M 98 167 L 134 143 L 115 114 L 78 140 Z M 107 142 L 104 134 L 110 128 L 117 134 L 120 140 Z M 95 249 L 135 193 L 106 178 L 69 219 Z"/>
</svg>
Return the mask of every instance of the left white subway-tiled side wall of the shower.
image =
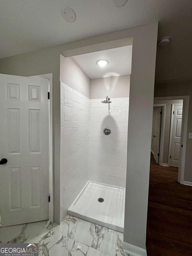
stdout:
<svg viewBox="0 0 192 256">
<path fill-rule="evenodd" d="M 88 181 L 90 100 L 61 83 L 60 222 Z"/>
</svg>

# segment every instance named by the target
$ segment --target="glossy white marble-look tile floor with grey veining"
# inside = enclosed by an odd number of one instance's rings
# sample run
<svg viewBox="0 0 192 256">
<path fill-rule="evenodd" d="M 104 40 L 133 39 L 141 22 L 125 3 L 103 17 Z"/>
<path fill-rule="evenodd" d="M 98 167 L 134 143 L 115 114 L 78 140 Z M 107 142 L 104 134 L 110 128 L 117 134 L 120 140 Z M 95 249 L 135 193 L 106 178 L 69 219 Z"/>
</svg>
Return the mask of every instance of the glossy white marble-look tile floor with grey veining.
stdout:
<svg viewBox="0 0 192 256">
<path fill-rule="evenodd" d="M 39 256 L 130 256 L 123 233 L 70 215 L 61 225 L 47 223 L 0 227 L 0 243 L 39 243 Z"/>
</svg>

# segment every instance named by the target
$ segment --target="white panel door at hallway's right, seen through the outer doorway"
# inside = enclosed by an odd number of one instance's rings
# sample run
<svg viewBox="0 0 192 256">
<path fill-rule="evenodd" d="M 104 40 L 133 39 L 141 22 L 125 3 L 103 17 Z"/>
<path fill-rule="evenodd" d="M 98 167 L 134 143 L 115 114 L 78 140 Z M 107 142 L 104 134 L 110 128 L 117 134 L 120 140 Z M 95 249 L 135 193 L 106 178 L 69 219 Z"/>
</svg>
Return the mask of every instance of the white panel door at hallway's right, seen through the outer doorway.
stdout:
<svg viewBox="0 0 192 256">
<path fill-rule="evenodd" d="M 179 167 L 183 106 L 174 105 L 170 166 Z"/>
</svg>

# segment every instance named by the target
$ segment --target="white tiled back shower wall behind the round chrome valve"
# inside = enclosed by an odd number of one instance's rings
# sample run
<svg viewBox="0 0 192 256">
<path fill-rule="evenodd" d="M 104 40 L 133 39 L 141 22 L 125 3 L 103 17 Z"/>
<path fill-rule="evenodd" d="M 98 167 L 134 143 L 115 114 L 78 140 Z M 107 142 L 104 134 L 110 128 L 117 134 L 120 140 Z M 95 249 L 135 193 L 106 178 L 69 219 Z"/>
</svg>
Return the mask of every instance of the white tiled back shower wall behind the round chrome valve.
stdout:
<svg viewBox="0 0 192 256">
<path fill-rule="evenodd" d="M 89 179 L 125 188 L 129 98 L 102 100 L 91 99 Z M 110 135 L 103 133 L 105 127 Z"/>
</svg>

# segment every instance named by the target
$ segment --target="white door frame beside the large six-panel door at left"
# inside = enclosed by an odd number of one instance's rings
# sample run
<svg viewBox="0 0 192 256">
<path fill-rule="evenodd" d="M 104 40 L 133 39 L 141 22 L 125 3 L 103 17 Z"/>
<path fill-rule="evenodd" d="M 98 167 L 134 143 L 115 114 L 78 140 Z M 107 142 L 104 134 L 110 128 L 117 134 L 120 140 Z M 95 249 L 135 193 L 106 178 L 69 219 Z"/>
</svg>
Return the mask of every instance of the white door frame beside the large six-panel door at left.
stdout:
<svg viewBox="0 0 192 256">
<path fill-rule="evenodd" d="M 53 87 L 53 74 L 43 74 L 30 77 L 45 78 L 49 79 L 49 225 L 53 222 L 53 98 L 52 98 L 52 87 Z"/>
</svg>

